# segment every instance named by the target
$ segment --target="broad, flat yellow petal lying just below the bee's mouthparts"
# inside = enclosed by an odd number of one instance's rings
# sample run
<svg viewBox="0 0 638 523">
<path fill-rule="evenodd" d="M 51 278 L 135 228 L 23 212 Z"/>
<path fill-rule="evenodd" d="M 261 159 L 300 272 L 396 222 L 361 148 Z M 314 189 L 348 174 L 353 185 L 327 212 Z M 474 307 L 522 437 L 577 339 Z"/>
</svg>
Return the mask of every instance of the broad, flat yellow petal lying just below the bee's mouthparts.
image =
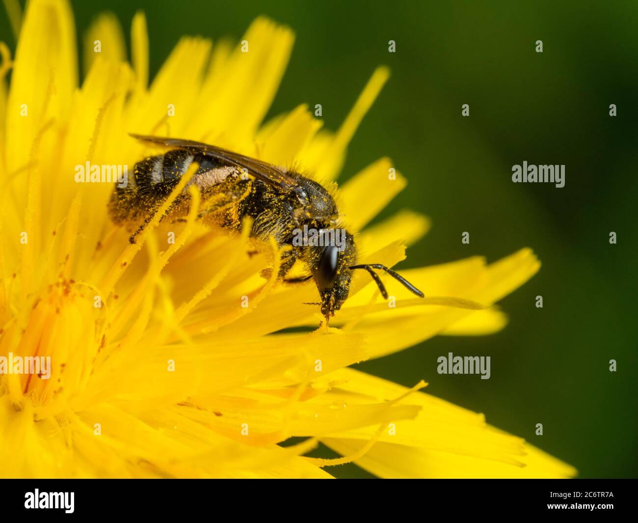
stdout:
<svg viewBox="0 0 638 523">
<path fill-rule="evenodd" d="M 197 393 L 210 395 L 244 384 L 295 384 L 309 375 L 317 377 L 367 358 L 358 333 L 279 335 L 244 341 L 220 338 L 213 335 L 207 341 L 198 340 L 197 345 L 137 345 L 116 351 L 94 369 L 76 407 L 114 397 L 138 405 L 171 404 Z M 315 370 L 316 360 L 323 362 L 320 372 Z M 140 372 L 144 381 L 139 379 Z"/>
</svg>

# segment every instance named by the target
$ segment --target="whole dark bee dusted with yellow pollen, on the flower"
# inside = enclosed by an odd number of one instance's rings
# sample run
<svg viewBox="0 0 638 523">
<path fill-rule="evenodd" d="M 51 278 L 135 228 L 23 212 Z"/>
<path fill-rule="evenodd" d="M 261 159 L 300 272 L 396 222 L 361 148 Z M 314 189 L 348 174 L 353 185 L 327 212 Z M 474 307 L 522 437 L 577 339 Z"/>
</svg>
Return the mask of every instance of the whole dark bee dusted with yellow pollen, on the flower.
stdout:
<svg viewBox="0 0 638 523">
<path fill-rule="evenodd" d="M 190 206 L 189 185 L 196 185 L 200 190 L 197 218 L 204 224 L 217 224 L 239 232 L 243 219 L 252 218 L 251 238 L 267 241 L 272 236 L 281 248 L 279 279 L 288 283 L 315 280 L 320 301 L 311 305 L 320 305 L 326 322 L 348 298 L 355 269 L 367 271 L 385 299 L 388 293 L 374 269 L 385 271 L 414 294 L 424 297 L 423 292 L 382 264 L 357 264 L 357 246 L 348 231 L 342 230 L 345 238 L 341 238 L 340 245 L 334 241 L 298 245 L 299 242 L 294 241 L 295 232 L 311 229 L 327 238 L 335 238 L 334 234 L 327 233 L 335 232 L 339 210 L 329 192 L 316 181 L 201 142 L 131 136 L 169 149 L 136 163 L 133 179 L 124 187 L 115 186 L 112 193 L 108 207 L 115 224 L 140 224 L 130 237 L 131 243 L 135 243 L 137 235 L 144 231 L 191 163 L 197 163 L 197 171 L 161 220 L 184 220 Z M 297 260 L 305 264 L 308 275 L 286 278 Z"/>
</svg>

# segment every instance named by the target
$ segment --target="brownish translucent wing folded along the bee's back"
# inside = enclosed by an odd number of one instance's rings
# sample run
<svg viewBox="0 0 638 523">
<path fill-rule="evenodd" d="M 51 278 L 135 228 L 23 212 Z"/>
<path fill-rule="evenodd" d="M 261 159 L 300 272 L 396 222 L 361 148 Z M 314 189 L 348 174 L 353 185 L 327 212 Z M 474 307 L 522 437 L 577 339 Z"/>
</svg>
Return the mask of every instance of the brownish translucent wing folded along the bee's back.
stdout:
<svg viewBox="0 0 638 523">
<path fill-rule="evenodd" d="M 265 183 L 269 183 L 276 188 L 283 190 L 290 190 L 296 187 L 297 181 L 292 177 L 285 174 L 278 167 L 271 165 L 255 158 L 249 158 L 248 156 L 238 155 L 232 151 L 226 151 L 219 147 L 211 146 L 209 144 L 203 144 L 202 142 L 194 142 L 193 140 L 181 140 L 179 138 L 161 138 L 157 136 L 144 136 L 131 133 L 133 138 L 142 140 L 144 142 L 151 142 L 153 144 L 160 144 L 167 147 L 173 147 L 175 149 L 188 149 L 189 151 L 197 151 L 204 153 L 207 156 L 218 158 L 223 162 L 230 163 L 231 165 L 237 165 L 242 169 L 246 169 L 249 174 L 255 176 Z"/>
</svg>

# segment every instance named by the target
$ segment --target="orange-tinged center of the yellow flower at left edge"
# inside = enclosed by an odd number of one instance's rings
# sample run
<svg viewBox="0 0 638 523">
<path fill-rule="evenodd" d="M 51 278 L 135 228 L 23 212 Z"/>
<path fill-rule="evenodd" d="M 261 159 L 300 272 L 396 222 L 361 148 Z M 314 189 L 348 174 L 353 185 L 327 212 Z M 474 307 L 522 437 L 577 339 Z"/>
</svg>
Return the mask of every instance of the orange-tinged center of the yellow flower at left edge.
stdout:
<svg viewBox="0 0 638 523">
<path fill-rule="evenodd" d="M 55 415 L 84 387 L 99 350 L 103 304 L 94 294 L 87 285 L 59 278 L 6 329 L 0 374 L 17 410 L 29 401 L 36 419 Z"/>
</svg>

